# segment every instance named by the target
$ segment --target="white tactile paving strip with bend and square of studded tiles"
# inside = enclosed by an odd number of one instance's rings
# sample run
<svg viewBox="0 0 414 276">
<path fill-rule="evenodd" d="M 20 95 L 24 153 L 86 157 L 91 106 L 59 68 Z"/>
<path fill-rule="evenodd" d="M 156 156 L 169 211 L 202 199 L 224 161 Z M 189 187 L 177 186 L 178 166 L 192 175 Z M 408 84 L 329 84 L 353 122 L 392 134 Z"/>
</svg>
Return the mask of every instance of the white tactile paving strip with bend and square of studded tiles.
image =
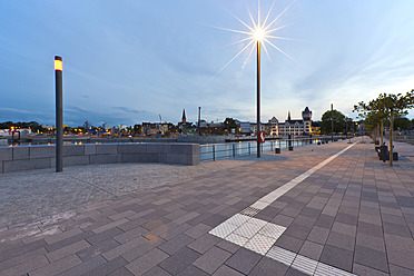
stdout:
<svg viewBox="0 0 414 276">
<path fill-rule="evenodd" d="M 307 275 L 355 276 L 355 274 L 351 274 L 339 268 L 326 265 L 324 263 L 274 246 L 276 240 L 286 230 L 286 227 L 272 224 L 263 219 L 253 218 L 253 216 L 255 216 L 257 213 L 265 209 L 277 198 L 285 195 L 296 185 L 298 185 L 299 183 L 308 178 L 310 175 L 313 175 L 315 171 L 324 167 L 326 164 L 331 162 L 336 157 L 348 150 L 355 144 L 346 147 L 339 152 L 319 162 L 315 167 L 308 169 L 300 176 L 292 179 L 282 187 L 262 197 L 256 203 L 254 203 L 246 209 L 241 210 L 241 214 L 234 215 L 223 224 L 218 225 L 216 228 L 211 229 L 209 234 L 224 238 L 230 243 L 253 250 L 263 256 L 273 258 L 287 266 L 292 266 L 293 268 L 300 270 Z"/>
</svg>

